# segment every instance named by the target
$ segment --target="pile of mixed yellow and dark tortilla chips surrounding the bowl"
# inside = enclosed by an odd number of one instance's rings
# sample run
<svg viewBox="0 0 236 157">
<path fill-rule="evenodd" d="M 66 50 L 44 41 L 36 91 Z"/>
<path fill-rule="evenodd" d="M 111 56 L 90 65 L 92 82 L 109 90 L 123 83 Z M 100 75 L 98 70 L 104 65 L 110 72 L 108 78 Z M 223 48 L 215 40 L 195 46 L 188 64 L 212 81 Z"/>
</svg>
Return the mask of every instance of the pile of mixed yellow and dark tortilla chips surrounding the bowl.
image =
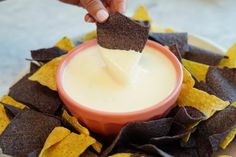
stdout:
<svg viewBox="0 0 236 157">
<path fill-rule="evenodd" d="M 0 100 L 0 153 L 28 157 L 208 157 L 227 148 L 236 135 L 236 44 L 225 56 L 189 45 L 187 33 L 153 25 L 143 6 L 133 19 L 151 25 L 149 39 L 168 47 L 183 65 L 176 107 L 166 117 L 129 123 L 114 138 L 91 135 L 70 115 L 57 93 L 57 67 L 74 48 L 64 37 L 51 48 L 31 51 L 29 73 Z M 96 31 L 81 41 L 94 38 Z"/>
</svg>

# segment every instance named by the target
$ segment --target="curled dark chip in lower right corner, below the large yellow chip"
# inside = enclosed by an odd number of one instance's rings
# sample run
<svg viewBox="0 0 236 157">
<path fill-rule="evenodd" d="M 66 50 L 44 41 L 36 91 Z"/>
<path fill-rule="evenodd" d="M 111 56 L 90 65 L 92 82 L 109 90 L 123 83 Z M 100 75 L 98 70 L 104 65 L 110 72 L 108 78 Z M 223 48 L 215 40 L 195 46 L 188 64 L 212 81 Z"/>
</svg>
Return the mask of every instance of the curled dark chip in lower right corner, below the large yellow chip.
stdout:
<svg viewBox="0 0 236 157">
<path fill-rule="evenodd" d="M 200 123 L 196 139 L 199 156 L 212 156 L 234 127 L 236 127 L 236 107 L 233 106 L 228 106 Z"/>
</svg>

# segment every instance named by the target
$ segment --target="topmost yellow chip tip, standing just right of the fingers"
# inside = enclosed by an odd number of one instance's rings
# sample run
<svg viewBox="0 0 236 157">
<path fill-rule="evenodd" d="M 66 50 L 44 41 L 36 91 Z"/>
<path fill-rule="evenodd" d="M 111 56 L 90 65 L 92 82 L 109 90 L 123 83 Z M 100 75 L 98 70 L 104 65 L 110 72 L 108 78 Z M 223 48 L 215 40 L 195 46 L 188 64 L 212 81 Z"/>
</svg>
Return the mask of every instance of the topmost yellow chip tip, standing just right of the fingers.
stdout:
<svg viewBox="0 0 236 157">
<path fill-rule="evenodd" d="M 134 12 L 134 15 L 132 18 L 138 21 L 151 22 L 151 17 L 149 16 L 147 9 L 143 5 L 140 5 L 138 7 L 138 9 Z"/>
</svg>

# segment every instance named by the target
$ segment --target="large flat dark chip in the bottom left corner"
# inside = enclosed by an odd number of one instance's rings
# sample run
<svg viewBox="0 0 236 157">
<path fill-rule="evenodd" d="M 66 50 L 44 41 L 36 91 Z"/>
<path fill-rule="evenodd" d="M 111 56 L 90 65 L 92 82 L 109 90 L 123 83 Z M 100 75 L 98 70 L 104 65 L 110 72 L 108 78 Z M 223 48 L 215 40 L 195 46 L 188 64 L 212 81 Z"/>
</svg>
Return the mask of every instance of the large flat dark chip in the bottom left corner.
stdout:
<svg viewBox="0 0 236 157">
<path fill-rule="evenodd" d="M 60 124 L 55 117 L 24 109 L 0 136 L 0 148 L 8 155 L 27 156 L 41 149 L 50 132 Z"/>
</svg>

